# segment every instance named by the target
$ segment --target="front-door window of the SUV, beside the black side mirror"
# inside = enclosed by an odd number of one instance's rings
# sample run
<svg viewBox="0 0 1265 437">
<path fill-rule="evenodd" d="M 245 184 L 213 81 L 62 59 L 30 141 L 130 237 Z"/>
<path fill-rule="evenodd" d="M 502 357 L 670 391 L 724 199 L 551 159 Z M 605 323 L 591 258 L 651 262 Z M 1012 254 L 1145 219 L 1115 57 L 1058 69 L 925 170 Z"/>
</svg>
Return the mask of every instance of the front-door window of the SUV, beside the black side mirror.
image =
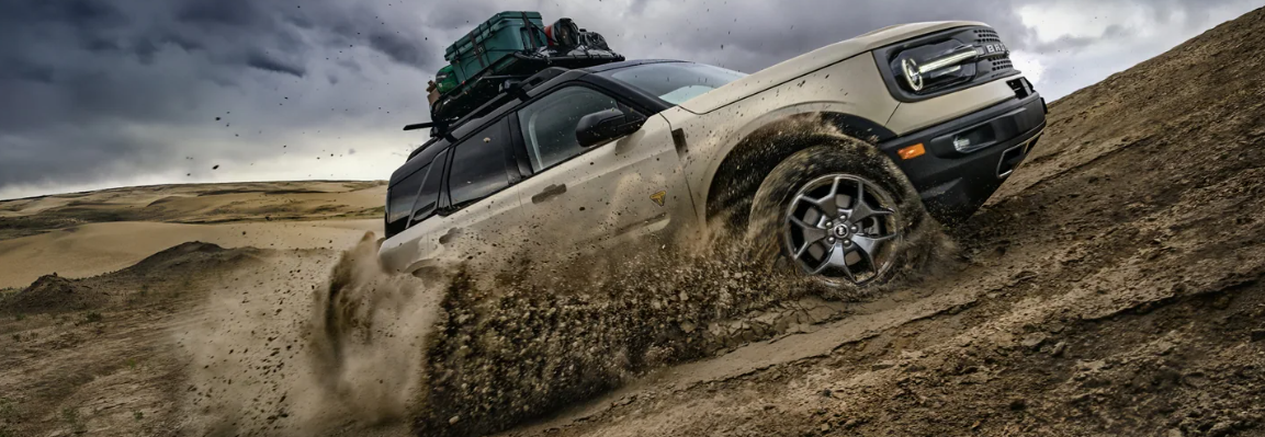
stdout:
<svg viewBox="0 0 1265 437">
<path fill-rule="evenodd" d="M 522 140 L 531 155 L 531 169 L 540 172 L 584 152 L 576 140 L 579 119 L 619 107 L 611 96 L 574 86 L 558 90 L 519 110 Z"/>
</svg>

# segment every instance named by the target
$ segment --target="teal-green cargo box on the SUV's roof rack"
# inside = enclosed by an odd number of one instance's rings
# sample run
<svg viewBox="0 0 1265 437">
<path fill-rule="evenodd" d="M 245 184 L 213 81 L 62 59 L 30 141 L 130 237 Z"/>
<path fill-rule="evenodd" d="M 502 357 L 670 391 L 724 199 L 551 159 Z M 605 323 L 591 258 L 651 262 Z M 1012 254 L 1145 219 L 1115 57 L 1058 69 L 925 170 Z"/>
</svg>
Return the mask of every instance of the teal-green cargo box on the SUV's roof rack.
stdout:
<svg viewBox="0 0 1265 437">
<path fill-rule="evenodd" d="M 540 13 L 505 11 L 449 45 L 444 59 L 453 66 L 459 85 L 479 75 L 500 75 L 514 66 L 515 53 L 545 45 L 548 39 Z"/>
</svg>

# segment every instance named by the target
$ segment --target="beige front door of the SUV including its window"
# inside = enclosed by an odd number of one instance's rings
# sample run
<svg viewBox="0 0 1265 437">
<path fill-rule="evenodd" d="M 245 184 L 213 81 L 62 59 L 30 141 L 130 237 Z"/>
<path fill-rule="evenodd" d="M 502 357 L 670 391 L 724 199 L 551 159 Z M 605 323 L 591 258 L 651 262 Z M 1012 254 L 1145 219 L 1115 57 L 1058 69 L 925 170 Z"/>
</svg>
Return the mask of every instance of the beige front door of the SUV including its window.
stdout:
<svg viewBox="0 0 1265 437">
<path fill-rule="evenodd" d="M 603 110 L 635 111 L 602 90 L 572 85 L 514 115 L 531 176 L 522 205 L 535 234 L 550 242 L 601 248 L 624 236 L 653 234 L 692 217 L 691 196 L 660 115 L 624 138 L 581 147 L 582 117 Z"/>
</svg>

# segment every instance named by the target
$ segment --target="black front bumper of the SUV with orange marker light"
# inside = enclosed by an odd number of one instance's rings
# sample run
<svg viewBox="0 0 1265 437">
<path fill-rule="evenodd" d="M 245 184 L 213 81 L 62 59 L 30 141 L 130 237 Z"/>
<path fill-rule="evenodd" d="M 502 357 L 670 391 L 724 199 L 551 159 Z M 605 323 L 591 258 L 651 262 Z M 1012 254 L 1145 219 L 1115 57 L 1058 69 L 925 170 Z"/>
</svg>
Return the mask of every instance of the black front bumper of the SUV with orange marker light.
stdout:
<svg viewBox="0 0 1265 437">
<path fill-rule="evenodd" d="M 1018 167 L 1045 129 L 1046 105 L 1027 81 L 1016 99 L 879 144 L 913 183 L 932 217 L 969 217 Z M 965 145 L 959 152 L 954 144 Z M 926 153 L 901 159 L 897 150 L 923 144 Z"/>
</svg>

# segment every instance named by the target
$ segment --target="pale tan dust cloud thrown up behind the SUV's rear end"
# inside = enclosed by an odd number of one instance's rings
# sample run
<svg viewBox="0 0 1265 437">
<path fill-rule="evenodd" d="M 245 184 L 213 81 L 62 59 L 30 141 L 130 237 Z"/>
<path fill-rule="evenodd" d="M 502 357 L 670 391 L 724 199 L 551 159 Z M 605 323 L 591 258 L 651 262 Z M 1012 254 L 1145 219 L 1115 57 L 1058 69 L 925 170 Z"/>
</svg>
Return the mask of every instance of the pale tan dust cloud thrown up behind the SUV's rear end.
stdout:
<svg viewBox="0 0 1265 437">
<path fill-rule="evenodd" d="M 415 416 L 439 293 L 383 273 L 376 255 L 369 234 L 336 260 L 281 253 L 226 275 L 176 338 L 190 361 L 187 427 L 306 436 Z"/>
</svg>

